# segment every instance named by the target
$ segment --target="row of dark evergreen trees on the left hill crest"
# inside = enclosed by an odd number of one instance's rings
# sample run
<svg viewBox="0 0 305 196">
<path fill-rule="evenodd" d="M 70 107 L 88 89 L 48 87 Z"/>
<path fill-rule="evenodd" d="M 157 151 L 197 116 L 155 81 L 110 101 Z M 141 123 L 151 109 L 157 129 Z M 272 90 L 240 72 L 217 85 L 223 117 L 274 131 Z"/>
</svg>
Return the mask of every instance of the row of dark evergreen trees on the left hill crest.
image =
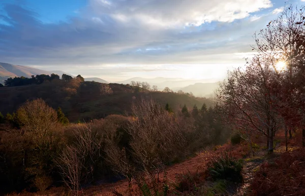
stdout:
<svg viewBox="0 0 305 196">
<path fill-rule="evenodd" d="M 76 78 L 80 79 L 82 82 L 84 82 L 84 78 L 81 75 L 76 76 Z M 69 76 L 67 74 L 62 75 L 62 80 L 63 81 L 69 81 L 73 79 L 72 76 Z M 52 80 L 60 80 L 60 77 L 57 74 L 51 74 L 45 75 L 36 75 L 32 76 L 31 78 L 26 78 L 26 77 L 15 77 L 15 78 L 8 78 L 7 80 L 4 81 L 5 86 L 24 86 L 24 85 L 30 85 L 30 84 L 42 84 L 46 81 L 52 81 Z"/>
</svg>

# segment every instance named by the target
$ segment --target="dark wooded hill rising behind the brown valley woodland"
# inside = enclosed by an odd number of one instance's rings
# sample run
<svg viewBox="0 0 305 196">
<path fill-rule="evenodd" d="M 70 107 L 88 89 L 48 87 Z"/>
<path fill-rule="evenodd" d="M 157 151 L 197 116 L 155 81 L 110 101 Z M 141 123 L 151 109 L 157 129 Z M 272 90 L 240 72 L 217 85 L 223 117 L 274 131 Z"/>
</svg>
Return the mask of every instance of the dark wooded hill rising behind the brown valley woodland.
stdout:
<svg viewBox="0 0 305 196">
<path fill-rule="evenodd" d="M 42 98 L 53 108 L 60 107 L 70 121 L 82 121 L 105 117 L 109 114 L 124 114 L 130 110 L 132 102 L 154 99 L 161 105 L 169 103 L 173 110 L 180 110 L 186 104 L 211 105 L 211 100 L 196 98 L 189 94 L 148 91 L 136 86 L 105 84 L 81 81 L 79 78 L 68 81 L 54 79 L 42 84 L 11 86 L 0 88 L 0 108 L 4 115 L 14 112 L 26 100 Z"/>
</svg>

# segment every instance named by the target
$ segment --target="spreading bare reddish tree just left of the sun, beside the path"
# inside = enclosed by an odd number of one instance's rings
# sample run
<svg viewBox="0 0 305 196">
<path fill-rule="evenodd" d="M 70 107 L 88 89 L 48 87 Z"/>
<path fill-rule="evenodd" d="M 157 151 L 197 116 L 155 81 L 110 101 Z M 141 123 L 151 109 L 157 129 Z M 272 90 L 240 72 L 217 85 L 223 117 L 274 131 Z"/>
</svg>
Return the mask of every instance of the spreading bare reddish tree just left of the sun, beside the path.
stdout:
<svg viewBox="0 0 305 196">
<path fill-rule="evenodd" d="M 273 136 L 281 121 L 276 111 L 278 96 L 270 90 L 274 73 L 272 61 L 255 56 L 246 70 L 229 71 L 227 81 L 217 91 L 224 120 L 249 136 L 253 132 L 264 135 L 269 152 L 273 151 Z"/>
</svg>

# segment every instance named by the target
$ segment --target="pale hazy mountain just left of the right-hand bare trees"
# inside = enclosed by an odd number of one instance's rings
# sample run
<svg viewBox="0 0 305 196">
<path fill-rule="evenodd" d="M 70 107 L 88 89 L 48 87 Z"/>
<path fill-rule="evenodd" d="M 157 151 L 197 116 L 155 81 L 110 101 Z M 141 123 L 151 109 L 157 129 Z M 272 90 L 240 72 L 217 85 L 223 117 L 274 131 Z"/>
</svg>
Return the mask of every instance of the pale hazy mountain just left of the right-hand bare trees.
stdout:
<svg viewBox="0 0 305 196">
<path fill-rule="evenodd" d="M 180 88 L 184 92 L 192 92 L 195 96 L 206 97 L 214 96 L 214 91 L 219 87 L 219 82 L 215 83 L 195 83 L 184 88 Z"/>
</svg>

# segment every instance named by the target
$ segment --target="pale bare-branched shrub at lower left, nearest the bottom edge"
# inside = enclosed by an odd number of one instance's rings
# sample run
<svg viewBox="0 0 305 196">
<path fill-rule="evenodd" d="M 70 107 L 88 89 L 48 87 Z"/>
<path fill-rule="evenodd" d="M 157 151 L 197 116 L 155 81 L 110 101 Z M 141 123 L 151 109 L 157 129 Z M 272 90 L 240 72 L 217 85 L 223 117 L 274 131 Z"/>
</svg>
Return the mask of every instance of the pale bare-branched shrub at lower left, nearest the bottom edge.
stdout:
<svg viewBox="0 0 305 196">
<path fill-rule="evenodd" d="M 93 180 L 94 169 L 102 157 L 103 135 L 92 124 L 77 127 L 73 134 L 74 141 L 66 146 L 56 163 L 65 184 L 77 195 L 81 183 Z"/>
</svg>

